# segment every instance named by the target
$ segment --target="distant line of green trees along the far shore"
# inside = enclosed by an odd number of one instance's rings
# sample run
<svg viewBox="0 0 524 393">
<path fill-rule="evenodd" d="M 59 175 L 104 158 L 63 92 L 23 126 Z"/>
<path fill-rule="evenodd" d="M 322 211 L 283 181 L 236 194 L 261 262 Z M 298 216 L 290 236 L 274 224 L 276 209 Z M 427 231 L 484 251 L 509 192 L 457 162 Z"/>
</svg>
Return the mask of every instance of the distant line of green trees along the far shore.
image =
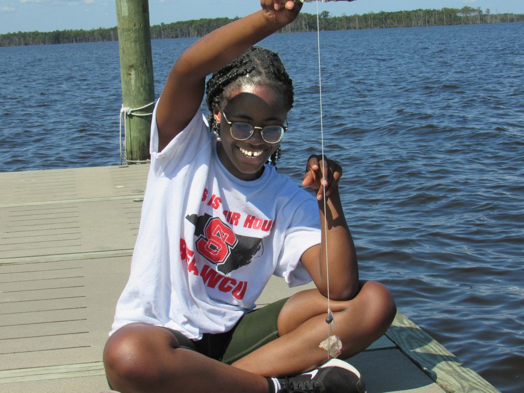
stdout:
<svg viewBox="0 0 524 393">
<path fill-rule="evenodd" d="M 490 9 L 480 7 L 416 9 L 412 11 L 379 12 L 363 15 L 331 16 L 328 11 L 320 15 L 321 30 L 377 29 L 393 27 L 422 27 L 470 25 L 480 23 L 511 23 L 524 21 L 524 14 L 492 14 Z M 185 38 L 202 37 L 210 31 L 235 20 L 230 18 L 213 18 L 161 23 L 151 26 L 151 38 Z M 300 14 L 293 23 L 281 32 L 316 31 L 316 15 Z M 118 40 L 116 27 L 97 28 L 92 30 L 56 30 L 18 31 L 0 35 L 0 47 L 49 45 L 57 43 L 105 42 Z"/>
</svg>

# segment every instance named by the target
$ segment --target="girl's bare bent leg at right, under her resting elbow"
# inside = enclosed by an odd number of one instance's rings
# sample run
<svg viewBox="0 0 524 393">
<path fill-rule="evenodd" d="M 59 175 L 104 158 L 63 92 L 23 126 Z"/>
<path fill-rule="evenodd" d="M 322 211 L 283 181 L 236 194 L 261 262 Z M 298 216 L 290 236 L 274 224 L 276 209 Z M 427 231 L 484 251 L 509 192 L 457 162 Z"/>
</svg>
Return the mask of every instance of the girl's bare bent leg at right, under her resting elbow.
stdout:
<svg viewBox="0 0 524 393">
<path fill-rule="evenodd" d="M 280 337 L 233 364 L 266 377 L 296 375 L 328 360 L 319 344 L 328 337 L 325 322 L 328 300 L 316 289 L 294 294 L 278 318 Z M 342 341 L 342 359 L 362 352 L 389 328 L 396 306 L 380 283 L 360 283 L 357 296 L 348 301 L 331 301 L 335 328 Z M 333 326 L 333 325 L 332 325 Z"/>
</svg>

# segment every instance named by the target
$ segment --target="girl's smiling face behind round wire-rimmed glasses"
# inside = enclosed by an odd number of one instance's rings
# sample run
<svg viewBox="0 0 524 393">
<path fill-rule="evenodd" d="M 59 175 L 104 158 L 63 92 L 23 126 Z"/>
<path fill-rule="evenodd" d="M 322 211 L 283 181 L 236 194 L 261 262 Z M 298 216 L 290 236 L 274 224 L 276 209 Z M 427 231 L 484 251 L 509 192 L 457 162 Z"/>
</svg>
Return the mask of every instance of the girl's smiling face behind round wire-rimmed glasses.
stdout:
<svg viewBox="0 0 524 393">
<path fill-rule="evenodd" d="M 217 153 L 222 164 L 242 180 L 255 180 L 263 172 L 264 163 L 280 146 L 268 143 L 255 129 L 252 136 L 237 140 L 231 136 L 230 122 L 245 122 L 255 127 L 286 124 L 287 110 L 281 93 L 265 85 L 243 86 L 232 92 L 224 107 L 216 107 L 214 116 L 220 123 Z"/>
</svg>

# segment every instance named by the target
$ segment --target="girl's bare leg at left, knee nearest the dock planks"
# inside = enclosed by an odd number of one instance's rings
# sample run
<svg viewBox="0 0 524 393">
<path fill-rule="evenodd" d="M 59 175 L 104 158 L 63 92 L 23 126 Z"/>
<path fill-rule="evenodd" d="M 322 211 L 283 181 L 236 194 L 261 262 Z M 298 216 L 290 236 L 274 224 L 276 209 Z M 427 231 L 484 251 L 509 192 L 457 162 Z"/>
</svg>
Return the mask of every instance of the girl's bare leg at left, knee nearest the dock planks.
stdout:
<svg viewBox="0 0 524 393">
<path fill-rule="evenodd" d="M 171 333 L 158 326 L 123 326 L 104 349 L 112 388 L 122 393 L 269 391 L 264 377 L 179 346 Z"/>
</svg>

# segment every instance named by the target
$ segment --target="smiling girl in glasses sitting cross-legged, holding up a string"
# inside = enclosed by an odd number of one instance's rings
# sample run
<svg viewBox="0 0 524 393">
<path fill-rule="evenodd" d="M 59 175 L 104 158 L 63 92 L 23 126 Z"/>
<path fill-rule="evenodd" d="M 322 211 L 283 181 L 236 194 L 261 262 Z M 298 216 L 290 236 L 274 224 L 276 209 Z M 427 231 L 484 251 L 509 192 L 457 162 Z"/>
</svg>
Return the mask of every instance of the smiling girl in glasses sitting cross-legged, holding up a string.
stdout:
<svg viewBox="0 0 524 393">
<path fill-rule="evenodd" d="M 155 107 L 140 231 L 104 350 L 107 378 L 123 393 L 364 391 L 354 367 L 323 364 L 328 269 L 341 356 L 394 318 L 387 289 L 358 280 L 342 168 L 309 158 L 302 184 L 315 200 L 267 163 L 278 159 L 293 86 L 277 54 L 252 46 L 301 4 L 260 3 L 188 48 Z M 253 311 L 272 274 L 316 289 Z"/>
</svg>

